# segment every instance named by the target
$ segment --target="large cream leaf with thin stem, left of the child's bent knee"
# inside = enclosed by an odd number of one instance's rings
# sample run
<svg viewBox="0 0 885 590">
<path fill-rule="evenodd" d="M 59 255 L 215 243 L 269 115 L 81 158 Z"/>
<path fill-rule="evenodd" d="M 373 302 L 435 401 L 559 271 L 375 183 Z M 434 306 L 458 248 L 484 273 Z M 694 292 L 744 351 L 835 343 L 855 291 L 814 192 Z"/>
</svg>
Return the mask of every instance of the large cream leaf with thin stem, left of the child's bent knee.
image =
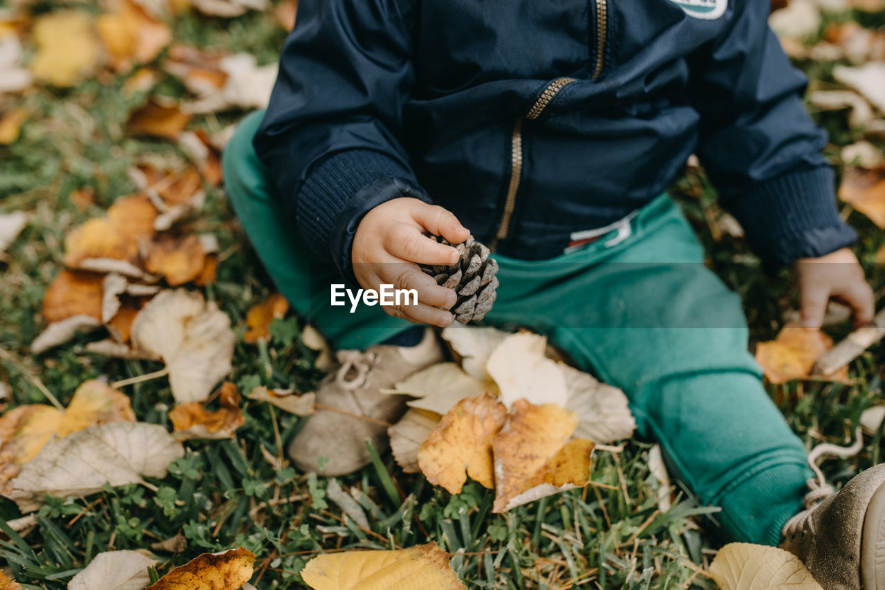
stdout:
<svg viewBox="0 0 885 590">
<path fill-rule="evenodd" d="M 230 320 L 198 293 L 160 292 L 135 318 L 132 340 L 163 359 L 179 403 L 205 400 L 231 370 L 235 336 Z"/>
</svg>

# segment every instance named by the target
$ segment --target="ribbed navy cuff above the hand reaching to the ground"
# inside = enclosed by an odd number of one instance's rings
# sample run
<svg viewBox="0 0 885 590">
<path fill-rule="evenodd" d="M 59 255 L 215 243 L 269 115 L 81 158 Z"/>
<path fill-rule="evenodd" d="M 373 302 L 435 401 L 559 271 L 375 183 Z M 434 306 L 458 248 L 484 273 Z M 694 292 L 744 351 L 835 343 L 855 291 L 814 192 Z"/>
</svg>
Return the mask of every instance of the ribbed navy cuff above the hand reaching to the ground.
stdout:
<svg viewBox="0 0 885 590">
<path fill-rule="evenodd" d="M 830 167 L 803 168 L 761 182 L 729 204 L 767 271 L 857 240 L 839 217 L 833 186 Z"/>
</svg>

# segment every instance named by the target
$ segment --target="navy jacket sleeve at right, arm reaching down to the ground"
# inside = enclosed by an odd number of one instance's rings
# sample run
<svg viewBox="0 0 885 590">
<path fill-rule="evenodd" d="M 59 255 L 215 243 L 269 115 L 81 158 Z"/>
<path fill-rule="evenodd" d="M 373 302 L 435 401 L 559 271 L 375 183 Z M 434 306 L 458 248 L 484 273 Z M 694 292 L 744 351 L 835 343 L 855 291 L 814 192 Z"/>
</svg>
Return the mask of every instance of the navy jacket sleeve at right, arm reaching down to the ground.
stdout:
<svg viewBox="0 0 885 590">
<path fill-rule="evenodd" d="M 857 235 L 835 207 L 827 134 L 802 103 L 806 79 L 768 27 L 769 0 L 731 0 L 727 30 L 689 60 L 697 156 L 769 270 Z"/>
</svg>

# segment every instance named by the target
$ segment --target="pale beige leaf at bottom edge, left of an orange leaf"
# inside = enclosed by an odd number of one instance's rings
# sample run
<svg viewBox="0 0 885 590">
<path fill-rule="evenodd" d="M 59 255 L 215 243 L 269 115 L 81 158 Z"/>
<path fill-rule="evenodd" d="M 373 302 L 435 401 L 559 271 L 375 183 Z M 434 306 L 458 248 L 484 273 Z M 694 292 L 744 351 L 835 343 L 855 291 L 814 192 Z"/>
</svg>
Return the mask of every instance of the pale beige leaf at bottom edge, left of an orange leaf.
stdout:
<svg viewBox="0 0 885 590">
<path fill-rule="evenodd" d="M 143 590 L 156 563 L 138 551 L 104 551 L 71 578 L 67 590 Z"/>
</svg>

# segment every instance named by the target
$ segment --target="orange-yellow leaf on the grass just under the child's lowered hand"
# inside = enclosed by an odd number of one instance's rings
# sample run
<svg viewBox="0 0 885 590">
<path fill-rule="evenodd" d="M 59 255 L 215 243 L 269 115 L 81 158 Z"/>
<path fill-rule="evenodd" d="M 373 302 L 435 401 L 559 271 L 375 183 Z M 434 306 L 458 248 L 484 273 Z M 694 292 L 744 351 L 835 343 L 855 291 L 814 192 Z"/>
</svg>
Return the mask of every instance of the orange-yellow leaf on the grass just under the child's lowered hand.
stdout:
<svg viewBox="0 0 885 590">
<path fill-rule="evenodd" d="M 833 338 L 824 332 L 787 324 L 777 338 L 756 345 L 756 361 L 773 384 L 787 383 L 793 379 L 822 378 L 812 376 L 814 361 L 832 347 Z M 823 378 L 847 382 L 848 367 Z"/>
</svg>

